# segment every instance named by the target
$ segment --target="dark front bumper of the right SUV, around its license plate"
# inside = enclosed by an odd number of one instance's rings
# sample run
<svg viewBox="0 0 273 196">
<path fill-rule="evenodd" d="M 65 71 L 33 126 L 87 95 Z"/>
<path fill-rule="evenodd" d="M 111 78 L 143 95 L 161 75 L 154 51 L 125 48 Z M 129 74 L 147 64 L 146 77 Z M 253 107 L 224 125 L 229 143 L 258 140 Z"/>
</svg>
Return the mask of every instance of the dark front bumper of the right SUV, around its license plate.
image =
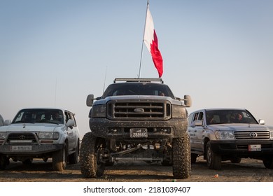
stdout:
<svg viewBox="0 0 273 196">
<path fill-rule="evenodd" d="M 249 145 L 261 145 L 261 151 L 249 151 Z M 236 155 L 241 158 L 262 158 L 273 155 L 273 141 L 211 141 L 211 150 L 221 155 Z"/>
</svg>

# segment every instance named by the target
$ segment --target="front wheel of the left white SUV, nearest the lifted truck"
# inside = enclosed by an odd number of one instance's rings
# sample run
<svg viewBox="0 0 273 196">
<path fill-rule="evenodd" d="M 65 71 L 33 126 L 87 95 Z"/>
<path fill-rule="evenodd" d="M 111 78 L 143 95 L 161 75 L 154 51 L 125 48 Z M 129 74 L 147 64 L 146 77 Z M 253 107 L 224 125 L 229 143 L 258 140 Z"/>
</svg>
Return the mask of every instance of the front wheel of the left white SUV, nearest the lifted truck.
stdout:
<svg viewBox="0 0 273 196">
<path fill-rule="evenodd" d="M 54 171 L 62 172 L 66 168 L 67 162 L 67 146 L 64 143 L 62 150 L 53 153 L 52 155 L 52 167 Z"/>
</svg>

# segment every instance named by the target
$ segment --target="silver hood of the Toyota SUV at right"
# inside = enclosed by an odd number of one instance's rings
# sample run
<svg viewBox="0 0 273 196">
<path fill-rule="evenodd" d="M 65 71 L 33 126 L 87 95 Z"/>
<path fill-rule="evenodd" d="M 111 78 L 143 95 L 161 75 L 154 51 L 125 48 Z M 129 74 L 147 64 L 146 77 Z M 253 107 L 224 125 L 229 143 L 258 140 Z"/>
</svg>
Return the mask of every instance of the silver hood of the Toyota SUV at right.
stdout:
<svg viewBox="0 0 273 196">
<path fill-rule="evenodd" d="M 225 131 L 265 131 L 273 130 L 272 126 L 258 125 L 258 124 L 218 124 L 207 125 L 211 130 L 225 130 Z"/>
</svg>

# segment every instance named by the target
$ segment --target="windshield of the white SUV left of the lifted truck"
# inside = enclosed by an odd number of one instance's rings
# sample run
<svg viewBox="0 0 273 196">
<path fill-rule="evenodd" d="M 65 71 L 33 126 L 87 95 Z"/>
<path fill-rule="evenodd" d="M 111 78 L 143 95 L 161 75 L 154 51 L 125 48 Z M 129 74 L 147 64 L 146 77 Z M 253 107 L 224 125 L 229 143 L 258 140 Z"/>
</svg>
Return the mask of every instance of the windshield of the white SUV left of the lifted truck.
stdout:
<svg viewBox="0 0 273 196">
<path fill-rule="evenodd" d="M 64 124 L 64 115 L 58 109 L 23 109 L 15 116 L 13 123 Z"/>
</svg>

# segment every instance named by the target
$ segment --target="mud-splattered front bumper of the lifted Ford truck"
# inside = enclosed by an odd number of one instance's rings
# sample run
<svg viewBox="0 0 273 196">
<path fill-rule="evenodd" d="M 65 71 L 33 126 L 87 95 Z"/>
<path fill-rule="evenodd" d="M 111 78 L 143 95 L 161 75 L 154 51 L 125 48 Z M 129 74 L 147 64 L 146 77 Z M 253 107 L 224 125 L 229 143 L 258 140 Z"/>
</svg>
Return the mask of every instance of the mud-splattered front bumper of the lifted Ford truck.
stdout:
<svg viewBox="0 0 273 196">
<path fill-rule="evenodd" d="M 183 137 L 188 128 L 186 118 L 170 120 L 108 120 L 90 118 L 90 130 L 96 137 L 130 139 L 131 128 L 146 128 L 148 139 Z"/>
</svg>

